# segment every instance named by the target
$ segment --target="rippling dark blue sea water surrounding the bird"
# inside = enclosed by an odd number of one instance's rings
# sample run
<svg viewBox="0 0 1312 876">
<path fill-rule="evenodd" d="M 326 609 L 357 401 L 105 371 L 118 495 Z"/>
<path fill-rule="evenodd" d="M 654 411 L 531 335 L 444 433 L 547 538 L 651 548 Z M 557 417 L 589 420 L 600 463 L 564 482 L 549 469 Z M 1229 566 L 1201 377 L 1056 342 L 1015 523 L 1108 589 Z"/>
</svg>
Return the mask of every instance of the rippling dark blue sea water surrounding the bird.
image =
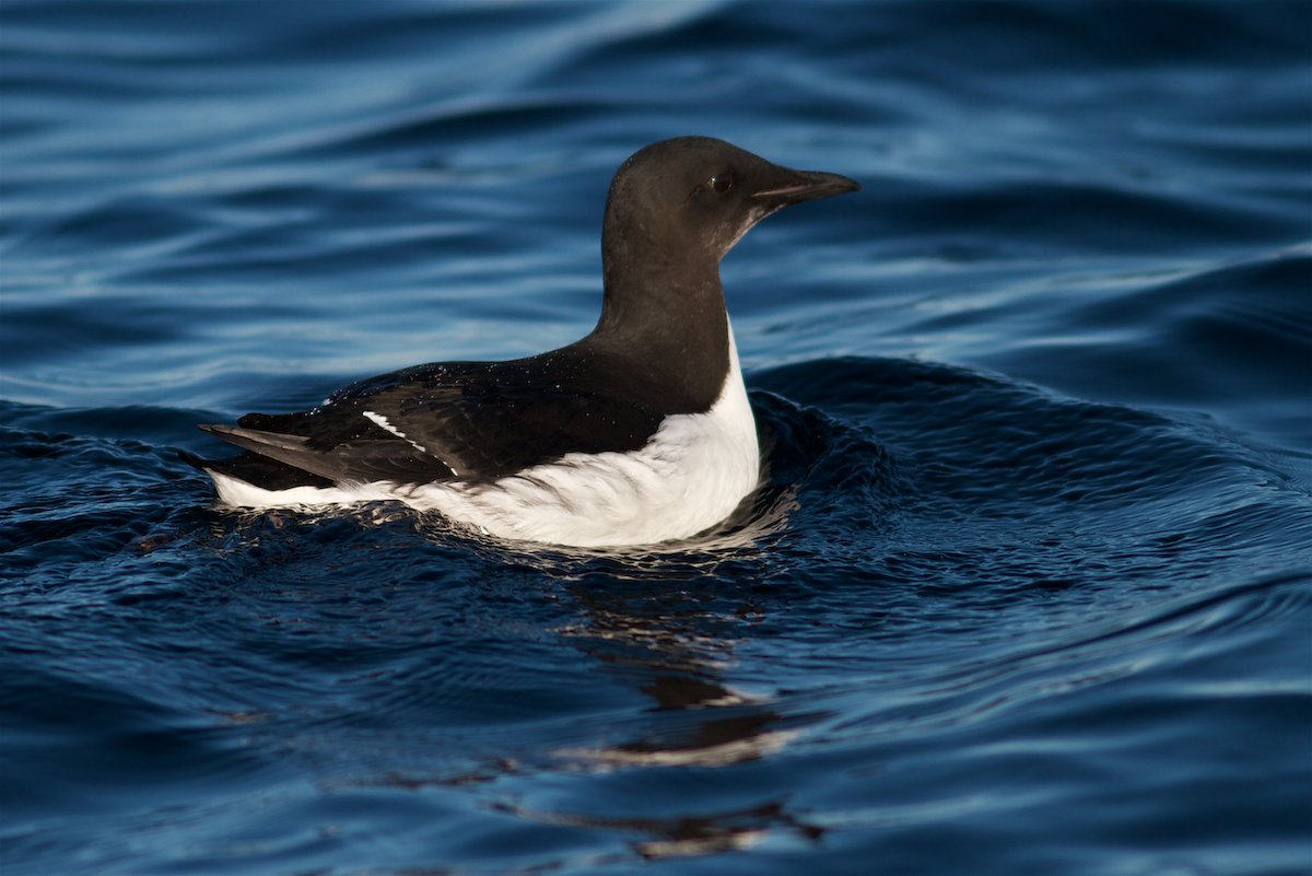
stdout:
<svg viewBox="0 0 1312 876">
<path fill-rule="evenodd" d="M 716 531 L 214 505 L 195 429 L 723 278 Z M 1312 3 L 0 4 L 0 872 L 1312 872 Z"/>
</svg>

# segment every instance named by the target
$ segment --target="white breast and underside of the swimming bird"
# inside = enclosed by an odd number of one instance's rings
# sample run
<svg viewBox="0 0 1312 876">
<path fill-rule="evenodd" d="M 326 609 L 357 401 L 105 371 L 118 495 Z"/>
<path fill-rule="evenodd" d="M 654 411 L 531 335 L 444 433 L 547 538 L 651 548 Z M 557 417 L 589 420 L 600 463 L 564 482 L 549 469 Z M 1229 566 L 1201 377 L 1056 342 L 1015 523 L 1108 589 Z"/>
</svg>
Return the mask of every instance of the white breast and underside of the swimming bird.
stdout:
<svg viewBox="0 0 1312 876">
<path fill-rule="evenodd" d="M 214 475 L 219 498 L 247 508 L 396 498 L 492 535 L 577 547 L 652 544 L 695 535 L 756 489 L 761 455 L 737 348 L 706 413 L 666 417 L 635 452 L 567 454 L 492 484 L 365 484 L 270 492 Z M 213 475 L 213 472 L 211 472 Z"/>
</svg>

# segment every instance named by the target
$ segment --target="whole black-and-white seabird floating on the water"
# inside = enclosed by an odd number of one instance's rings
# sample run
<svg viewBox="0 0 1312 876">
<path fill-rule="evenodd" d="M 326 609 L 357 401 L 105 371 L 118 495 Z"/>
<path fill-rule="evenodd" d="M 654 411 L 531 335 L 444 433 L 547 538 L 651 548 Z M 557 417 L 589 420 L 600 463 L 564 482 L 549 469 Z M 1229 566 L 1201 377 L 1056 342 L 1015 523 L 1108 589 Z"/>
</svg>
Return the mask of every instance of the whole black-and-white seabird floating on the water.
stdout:
<svg viewBox="0 0 1312 876">
<path fill-rule="evenodd" d="M 653 143 L 610 184 L 590 334 L 523 359 L 369 378 L 312 410 L 202 425 L 244 452 L 182 458 L 241 508 L 400 500 L 508 539 L 693 536 L 761 469 L 720 258 L 771 212 L 859 189 L 723 140 Z"/>
</svg>

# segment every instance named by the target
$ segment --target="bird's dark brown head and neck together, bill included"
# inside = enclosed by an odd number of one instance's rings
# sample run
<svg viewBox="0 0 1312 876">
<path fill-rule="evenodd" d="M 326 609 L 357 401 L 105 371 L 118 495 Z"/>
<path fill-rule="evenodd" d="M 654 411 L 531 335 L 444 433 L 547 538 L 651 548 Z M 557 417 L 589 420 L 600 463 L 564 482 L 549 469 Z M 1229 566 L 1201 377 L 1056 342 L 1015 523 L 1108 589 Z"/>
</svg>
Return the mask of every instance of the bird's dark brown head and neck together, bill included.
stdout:
<svg viewBox="0 0 1312 876">
<path fill-rule="evenodd" d="M 775 210 L 859 188 L 708 136 L 635 152 L 606 198 L 605 296 L 597 328 L 575 345 L 580 361 L 605 362 L 643 405 L 708 410 L 732 366 L 720 258 Z"/>
</svg>

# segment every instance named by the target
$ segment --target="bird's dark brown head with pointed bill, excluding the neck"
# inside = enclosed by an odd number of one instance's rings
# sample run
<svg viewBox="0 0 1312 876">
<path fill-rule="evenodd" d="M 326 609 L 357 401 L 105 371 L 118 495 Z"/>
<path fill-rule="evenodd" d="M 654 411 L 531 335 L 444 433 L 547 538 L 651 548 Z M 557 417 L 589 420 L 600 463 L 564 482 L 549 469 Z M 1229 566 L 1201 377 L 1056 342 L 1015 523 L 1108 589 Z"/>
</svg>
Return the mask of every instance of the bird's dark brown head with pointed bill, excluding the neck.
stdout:
<svg viewBox="0 0 1312 876">
<path fill-rule="evenodd" d="M 661 140 L 615 172 L 602 252 L 607 261 L 714 265 L 775 210 L 859 189 L 848 177 L 781 168 L 708 136 Z"/>
</svg>

